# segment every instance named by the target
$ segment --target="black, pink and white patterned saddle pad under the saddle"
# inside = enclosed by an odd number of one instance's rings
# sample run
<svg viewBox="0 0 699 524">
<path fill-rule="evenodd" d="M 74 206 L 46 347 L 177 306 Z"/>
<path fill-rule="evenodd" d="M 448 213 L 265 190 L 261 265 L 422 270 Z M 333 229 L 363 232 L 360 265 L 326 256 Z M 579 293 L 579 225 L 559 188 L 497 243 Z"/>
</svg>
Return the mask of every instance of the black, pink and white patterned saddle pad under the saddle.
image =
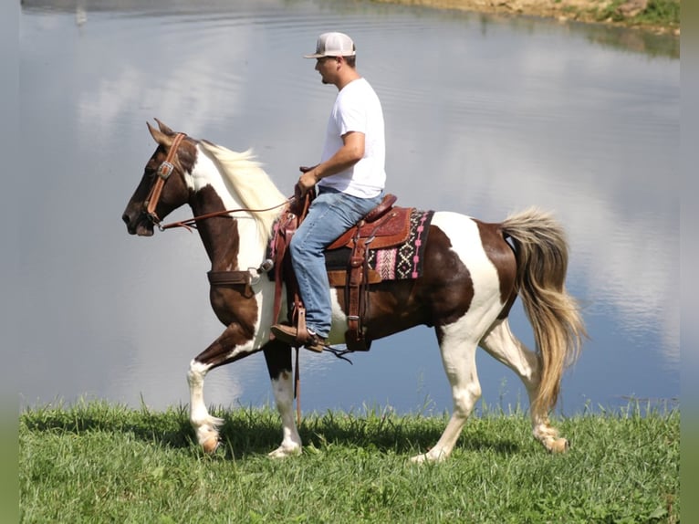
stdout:
<svg viewBox="0 0 699 524">
<path fill-rule="evenodd" d="M 405 242 L 398 246 L 369 249 L 369 267 L 378 273 L 381 280 L 403 280 L 422 276 L 424 246 L 427 244 L 427 233 L 433 215 L 433 211 L 413 209 L 410 234 Z M 328 271 L 346 270 L 350 253 L 349 247 L 326 251 L 325 265 Z"/>
</svg>

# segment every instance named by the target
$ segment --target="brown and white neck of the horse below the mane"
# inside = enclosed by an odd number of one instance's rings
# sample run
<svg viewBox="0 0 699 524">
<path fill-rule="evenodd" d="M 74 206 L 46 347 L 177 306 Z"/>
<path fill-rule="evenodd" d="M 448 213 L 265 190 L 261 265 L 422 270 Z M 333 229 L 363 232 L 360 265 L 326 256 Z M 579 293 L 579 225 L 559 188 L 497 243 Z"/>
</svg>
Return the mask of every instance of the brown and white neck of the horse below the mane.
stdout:
<svg viewBox="0 0 699 524">
<path fill-rule="evenodd" d="M 193 215 L 225 210 L 244 209 L 240 197 L 226 183 L 218 167 L 200 152 L 191 175 L 190 206 Z M 240 211 L 229 216 L 214 217 L 197 225 L 214 271 L 230 271 L 259 267 L 265 258 L 268 233 L 260 229 L 256 217 Z"/>
</svg>

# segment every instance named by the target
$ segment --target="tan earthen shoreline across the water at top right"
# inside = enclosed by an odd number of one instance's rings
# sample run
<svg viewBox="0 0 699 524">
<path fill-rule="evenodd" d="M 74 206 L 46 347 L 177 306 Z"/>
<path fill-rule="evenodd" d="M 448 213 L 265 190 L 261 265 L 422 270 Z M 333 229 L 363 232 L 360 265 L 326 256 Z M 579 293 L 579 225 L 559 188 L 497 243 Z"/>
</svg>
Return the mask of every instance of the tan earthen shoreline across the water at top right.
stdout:
<svg viewBox="0 0 699 524">
<path fill-rule="evenodd" d="M 639 19 L 648 0 L 372 0 L 381 4 L 419 5 L 434 9 L 454 9 L 498 16 L 537 16 L 560 23 L 582 22 L 621 26 L 656 35 L 680 37 L 680 26 L 671 21 Z M 614 7 L 614 5 L 617 5 Z M 678 0 L 679 5 L 679 0 Z M 609 16 L 600 16 L 600 13 Z"/>
</svg>

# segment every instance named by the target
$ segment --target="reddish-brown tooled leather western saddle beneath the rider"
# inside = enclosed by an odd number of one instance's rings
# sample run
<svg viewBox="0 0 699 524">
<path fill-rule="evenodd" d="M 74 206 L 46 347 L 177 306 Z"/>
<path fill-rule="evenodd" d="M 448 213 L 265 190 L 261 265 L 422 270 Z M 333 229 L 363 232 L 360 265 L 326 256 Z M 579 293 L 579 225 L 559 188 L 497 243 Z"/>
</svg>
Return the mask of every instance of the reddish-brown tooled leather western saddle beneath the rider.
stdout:
<svg viewBox="0 0 699 524">
<path fill-rule="evenodd" d="M 274 318 L 279 316 L 281 289 L 282 285 L 286 284 L 288 320 L 296 324 L 298 333 L 308 332 L 306 309 L 298 294 L 297 280 L 291 266 L 291 257 L 287 255 L 287 247 L 298 225 L 306 217 L 308 206 L 314 197 L 315 194 L 311 192 L 303 201 L 299 202 L 297 199 L 287 205 L 276 227 L 271 249 L 276 282 Z M 362 320 L 366 317 L 369 307 L 368 286 L 381 282 L 381 275 L 369 267 L 368 251 L 400 245 L 410 236 L 412 208 L 395 207 L 393 204 L 396 200 L 394 194 L 386 194 L 381 204 L 326 248 L 326 256 L 340 250 L 349 251 L 344 269 L 328 271 L 330 286 L 344 288 L 348 311 L 345 341 L 349 351 L 369 351 L 371 344 L 364 336 Z"/>
</svg>

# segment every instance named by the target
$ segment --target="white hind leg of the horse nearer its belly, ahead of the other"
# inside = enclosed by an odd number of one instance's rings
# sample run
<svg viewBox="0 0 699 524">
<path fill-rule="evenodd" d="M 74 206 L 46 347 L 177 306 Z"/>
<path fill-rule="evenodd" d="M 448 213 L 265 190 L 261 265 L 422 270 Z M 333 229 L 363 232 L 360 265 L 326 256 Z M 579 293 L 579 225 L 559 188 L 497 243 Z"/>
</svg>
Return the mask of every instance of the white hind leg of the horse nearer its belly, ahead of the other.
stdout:
<svg viewBox="0 0 699 524">
<path fill-rule="evenodd" d="M 437 327 L 444 371 L 452 386 L 454 411 L 442 436 L 430 451 L 413 456 L 412 462 L 442 461 L 452 453 L 468 415 L 481 396 L 481 384 L 475 369 L 476 341 L 470 340 L 464 319 L 448 326 Z"/>
</svg>

